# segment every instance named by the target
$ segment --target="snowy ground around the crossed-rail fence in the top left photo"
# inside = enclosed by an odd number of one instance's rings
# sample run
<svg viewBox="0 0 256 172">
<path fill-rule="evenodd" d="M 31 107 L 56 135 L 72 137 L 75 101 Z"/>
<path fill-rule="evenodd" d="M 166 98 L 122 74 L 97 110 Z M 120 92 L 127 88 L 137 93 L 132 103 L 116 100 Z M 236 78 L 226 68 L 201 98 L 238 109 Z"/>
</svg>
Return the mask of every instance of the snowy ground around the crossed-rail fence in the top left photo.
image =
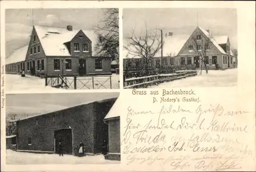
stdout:
<svg viewBox="0 0 256 172">
<path fill-rule="evenodd" d="M 110 81 L 104 81 L 108 77 L 95 77 L 94 78 L 94 89 L 110 89 Z M 79 79 L 80 80 L 80 79 Z M 57 91 L 57 88 L 53 88 L 51 86 L 45 86 L 45 79 L 41 79 L 39 77 L 34 77 L 34 76 L 29 76 L 26 75 L 26 77 L 21 77 L 20 75 L 11 75 L 7 74 L 5 77 L 5 83 L 6 83 L 6 91 L 33 91 L 33 90 L 55 90 Z M 71 81 L 71 80 L 70 80 Z M 82 81 L 82 80 L 81 80 Z M 99 81 L 103 86 L 100 87 L 100 83 L 97 82 Z M 113 89 L 118 89 L 119 88 L 119 75 L 113 74 L 112 75 L 112 88 Z M 72 81 L 71 81 L 72 82 Z M 82 81 L 82 83 L 86 83 L 87 81 Z M 77 89 L 81 89 L 83 87 L 80 81 L 77 81 Z M 73 83 L 74 85 L 74 83 Z M 89 81 L 87 86 L 92 89 L 92 81 Z M 74 87 L 73 87 L 74 88 Z M 88 89 L 87 87 L 83 87 L 82 89 Z"/>
</svg>

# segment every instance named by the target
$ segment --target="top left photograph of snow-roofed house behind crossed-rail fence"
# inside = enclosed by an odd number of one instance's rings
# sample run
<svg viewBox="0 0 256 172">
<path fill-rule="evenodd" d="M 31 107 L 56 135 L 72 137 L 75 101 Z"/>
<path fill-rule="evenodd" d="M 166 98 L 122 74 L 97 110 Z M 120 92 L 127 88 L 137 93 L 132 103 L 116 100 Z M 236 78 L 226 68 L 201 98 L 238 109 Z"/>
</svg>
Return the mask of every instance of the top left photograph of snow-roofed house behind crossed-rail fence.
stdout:
<svg viewBox="0 0 256 172">
<path fill-rule="evenodd" d="M 119 89 L 119 9 L 6 9 L 6 89 Z"/>
</svg>

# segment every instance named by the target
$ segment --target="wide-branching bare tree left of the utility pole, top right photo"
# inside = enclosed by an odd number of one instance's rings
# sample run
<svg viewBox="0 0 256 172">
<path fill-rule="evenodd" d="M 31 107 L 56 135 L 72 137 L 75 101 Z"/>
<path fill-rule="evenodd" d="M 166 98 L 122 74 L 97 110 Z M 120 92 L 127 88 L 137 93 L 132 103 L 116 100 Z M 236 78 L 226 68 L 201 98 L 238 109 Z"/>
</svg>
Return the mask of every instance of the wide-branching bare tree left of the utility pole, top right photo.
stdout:
<svg viewBox="0 0 256 172">
<path fill-rule="evenodd" d="M 157 29 L 151 32 L 146 29 L 140 35 L 136 35 L 133 30 L 132 34 L 127 37 L 127 45 L 124 45 L 124 48 L 130 55 L 144 59 L 147 76 L 148 64 L 152 62 L 152 58 L 161 49 L 161 43 L 161 36 L 157 34 Z"/>
</svg>

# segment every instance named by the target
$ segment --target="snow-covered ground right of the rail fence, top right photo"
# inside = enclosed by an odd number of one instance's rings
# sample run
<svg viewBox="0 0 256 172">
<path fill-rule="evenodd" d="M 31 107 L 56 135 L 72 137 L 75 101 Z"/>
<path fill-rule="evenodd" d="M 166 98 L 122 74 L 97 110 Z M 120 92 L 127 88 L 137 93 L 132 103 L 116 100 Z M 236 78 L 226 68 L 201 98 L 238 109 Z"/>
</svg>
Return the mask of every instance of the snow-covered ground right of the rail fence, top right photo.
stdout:
<svg viewBox="0 0 256 172">
<path fill-rule="evenodd" d="M 171 82 L 165 82 L 157 86 L 150 88 L 168 88 L 168 87 L 232 87 L 237 86 L 238 82 L 238 69 L 226 69 L 226 70 L 209 70 L 205 73 L 202 70 L 195 77 L 188 77 L 181 80 L 174 80 Z"/>
</svg>

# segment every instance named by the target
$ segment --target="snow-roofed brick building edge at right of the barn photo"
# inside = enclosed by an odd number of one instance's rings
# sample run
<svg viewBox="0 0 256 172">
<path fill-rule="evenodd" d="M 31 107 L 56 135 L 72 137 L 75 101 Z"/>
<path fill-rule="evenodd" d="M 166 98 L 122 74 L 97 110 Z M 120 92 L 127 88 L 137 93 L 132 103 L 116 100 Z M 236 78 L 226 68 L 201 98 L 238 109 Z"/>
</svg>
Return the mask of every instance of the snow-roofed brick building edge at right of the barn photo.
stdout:
<svg viewBox="0 0 256 172">
<path fill-rule="evenodd" d="M 109 152 L 107 158 L 110 160 L 121 160 L 120 154 L 120 115 L 118 108 L 120 100 L 117 99 L 104 121 L 109 126 Z"/>
</svg>

